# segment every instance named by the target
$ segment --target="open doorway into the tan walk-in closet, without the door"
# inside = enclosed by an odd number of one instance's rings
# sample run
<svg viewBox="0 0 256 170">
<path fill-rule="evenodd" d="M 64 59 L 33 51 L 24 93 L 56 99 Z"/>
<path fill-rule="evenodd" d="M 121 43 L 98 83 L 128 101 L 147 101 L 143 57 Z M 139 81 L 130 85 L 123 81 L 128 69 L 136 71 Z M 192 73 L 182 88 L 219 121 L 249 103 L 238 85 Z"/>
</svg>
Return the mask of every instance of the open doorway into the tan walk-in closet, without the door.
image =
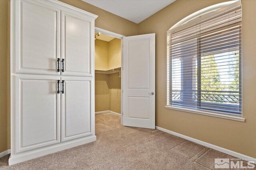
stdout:
<svg viewBox="0 0 256 170">
<path fill-rule="evenodd" d="M 95 114 L 113 113 L 122 124 L 123 35 L 95 27 Z"/>
</svg>

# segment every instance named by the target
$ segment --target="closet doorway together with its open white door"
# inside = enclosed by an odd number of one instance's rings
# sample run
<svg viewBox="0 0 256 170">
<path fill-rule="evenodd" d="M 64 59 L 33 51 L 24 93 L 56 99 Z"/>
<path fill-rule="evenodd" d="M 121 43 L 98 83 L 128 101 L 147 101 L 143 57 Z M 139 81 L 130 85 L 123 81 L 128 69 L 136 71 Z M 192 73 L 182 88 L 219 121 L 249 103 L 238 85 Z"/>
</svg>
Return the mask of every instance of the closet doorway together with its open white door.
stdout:
<svg viewBox="0 0 256 170">
<path fill-rule="evenodd" d="M 155 33 L 125 37 L 95 28 L 95 113 L 155 129 Z"/>
</svg>

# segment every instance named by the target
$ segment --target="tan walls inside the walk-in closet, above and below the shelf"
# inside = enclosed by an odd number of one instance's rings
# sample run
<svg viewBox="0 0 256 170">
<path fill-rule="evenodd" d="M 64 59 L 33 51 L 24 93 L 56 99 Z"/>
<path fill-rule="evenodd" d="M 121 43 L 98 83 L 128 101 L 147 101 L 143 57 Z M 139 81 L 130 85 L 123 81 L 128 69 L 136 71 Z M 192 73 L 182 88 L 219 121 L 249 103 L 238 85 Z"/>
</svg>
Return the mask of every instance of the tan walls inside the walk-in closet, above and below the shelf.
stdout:
<svg viewBox="0 0 256 170">
<path fill-rule="evenodd" d="M 109 70 L 121 67 L 121 40 L 95 40 L 95 69 Z M 119 72 L 95 73 L 95 111 L 121 113 L 121 78 Z"/>
</svg>

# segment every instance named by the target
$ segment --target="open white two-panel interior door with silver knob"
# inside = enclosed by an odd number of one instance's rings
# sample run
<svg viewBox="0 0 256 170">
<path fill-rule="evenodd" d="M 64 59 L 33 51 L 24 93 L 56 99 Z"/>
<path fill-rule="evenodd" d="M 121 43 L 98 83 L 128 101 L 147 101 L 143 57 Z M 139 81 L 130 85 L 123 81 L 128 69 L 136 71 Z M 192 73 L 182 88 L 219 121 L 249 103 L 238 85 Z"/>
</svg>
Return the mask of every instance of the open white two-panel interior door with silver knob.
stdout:
<svg viewBox="0 0 256 170">
<path fill-rule="evenodd" d="M 123 44 L 123 125 L 155 129 L 155 33 Z"/>
</svg>

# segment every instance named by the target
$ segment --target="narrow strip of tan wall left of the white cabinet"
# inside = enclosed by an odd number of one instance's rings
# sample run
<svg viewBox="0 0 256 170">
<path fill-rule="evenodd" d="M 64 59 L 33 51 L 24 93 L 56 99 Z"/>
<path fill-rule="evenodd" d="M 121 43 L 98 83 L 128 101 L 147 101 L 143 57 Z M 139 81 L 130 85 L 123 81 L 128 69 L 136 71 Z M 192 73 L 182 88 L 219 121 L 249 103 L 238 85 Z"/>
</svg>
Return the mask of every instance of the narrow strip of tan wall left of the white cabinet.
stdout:
<svg viewBox="0 0 256 170">
<path fill-rule="evenodd" d="M 0 0 L 0 152 L 10 148 L 10 2 Z"/>
</svg>

